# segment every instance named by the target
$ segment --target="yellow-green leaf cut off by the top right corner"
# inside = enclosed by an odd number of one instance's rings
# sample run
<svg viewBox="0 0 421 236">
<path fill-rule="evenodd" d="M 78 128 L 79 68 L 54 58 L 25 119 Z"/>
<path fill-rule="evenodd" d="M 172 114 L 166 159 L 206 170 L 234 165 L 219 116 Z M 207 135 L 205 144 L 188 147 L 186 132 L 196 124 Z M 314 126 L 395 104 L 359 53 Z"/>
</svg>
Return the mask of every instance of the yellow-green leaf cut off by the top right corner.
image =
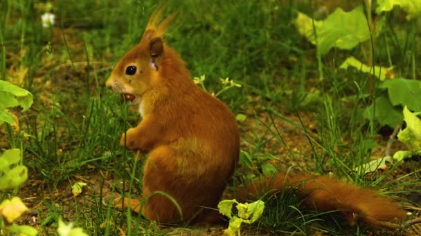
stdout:
<svg viewBox="0 0 421 236">
<path fill-rule="evenodd" d="M 408 13 L 406 19 L 417 17 L 421 13 L 420 0 L 377 0 L 377 14 L 382 12 L 390 12 L 394 6 L 400 6 Z"/>
</svg>

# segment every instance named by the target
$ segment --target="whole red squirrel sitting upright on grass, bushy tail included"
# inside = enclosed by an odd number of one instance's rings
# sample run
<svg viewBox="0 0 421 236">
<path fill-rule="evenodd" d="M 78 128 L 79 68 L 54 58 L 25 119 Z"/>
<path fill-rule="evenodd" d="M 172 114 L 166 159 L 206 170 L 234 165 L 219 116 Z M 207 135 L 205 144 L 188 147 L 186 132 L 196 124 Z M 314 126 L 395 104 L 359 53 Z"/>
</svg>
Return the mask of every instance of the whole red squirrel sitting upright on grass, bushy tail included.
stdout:
<svg viewBox="0 0 421 236">
<path fill-rule="evenodd" d="M 147 154 L 141 199 L 118 199 L 116 206 L 123 208 L 124 202 L 151 221 L 213 224 L 220 217 L 212 208 L 238 164 L 240 131 L 229 108 L 195 85 L 184 61 L 164 43 L 174 14 L 160 21 L 163 9 L 155 10 L 141 41 L 120 59 L 106 82 L 142 116 L 122 135 L 120 145 Z M 406 215 L 375 190 L 311 175 L 278 174 L 239 188 L 237 197 L 246 200 L 247 192 L 283 186 L 298 188 L 312 209 L 339 210 L 350 224 L 361 219 L 384 226 L 381 222 Z"/>
</svg>

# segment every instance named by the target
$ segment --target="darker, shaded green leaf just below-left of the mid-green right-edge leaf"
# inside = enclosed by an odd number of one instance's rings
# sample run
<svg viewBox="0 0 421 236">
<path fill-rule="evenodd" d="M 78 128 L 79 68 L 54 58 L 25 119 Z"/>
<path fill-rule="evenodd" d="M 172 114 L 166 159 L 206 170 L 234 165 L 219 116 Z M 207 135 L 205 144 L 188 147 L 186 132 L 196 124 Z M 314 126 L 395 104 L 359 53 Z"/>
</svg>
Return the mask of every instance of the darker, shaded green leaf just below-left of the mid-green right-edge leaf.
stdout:
<svg viewBox="0 0 421 236">
<path fill-rule="evenodd" d="M 373 114 L 375 115 L 374 117 Z M 387 125 L 392 128 L 402 124 L 403 121 L 401 110 L 391 104 L 387 95 L 377 97 L 374 104 L 368 106 L 364 111 L 364 117 L 368 120 L 376 119 L 382 126 Z"/>
</svg>

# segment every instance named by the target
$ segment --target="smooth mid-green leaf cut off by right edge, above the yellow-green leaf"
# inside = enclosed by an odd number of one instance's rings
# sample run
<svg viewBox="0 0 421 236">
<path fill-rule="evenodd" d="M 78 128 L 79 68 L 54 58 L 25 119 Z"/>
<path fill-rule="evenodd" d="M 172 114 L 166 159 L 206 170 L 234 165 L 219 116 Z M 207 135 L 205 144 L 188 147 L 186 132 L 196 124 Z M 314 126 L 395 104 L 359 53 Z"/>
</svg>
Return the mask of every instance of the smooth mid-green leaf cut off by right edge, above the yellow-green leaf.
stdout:
<svg viewBox="0 0 421 236">
<path fill-rule="evenodd" d="M 421 111 L 421 81 L 392 79 L 381 83 L 379 88 L 387 88 L 393 106 L 408 106 L 411 110 Z"/>
</svg>

